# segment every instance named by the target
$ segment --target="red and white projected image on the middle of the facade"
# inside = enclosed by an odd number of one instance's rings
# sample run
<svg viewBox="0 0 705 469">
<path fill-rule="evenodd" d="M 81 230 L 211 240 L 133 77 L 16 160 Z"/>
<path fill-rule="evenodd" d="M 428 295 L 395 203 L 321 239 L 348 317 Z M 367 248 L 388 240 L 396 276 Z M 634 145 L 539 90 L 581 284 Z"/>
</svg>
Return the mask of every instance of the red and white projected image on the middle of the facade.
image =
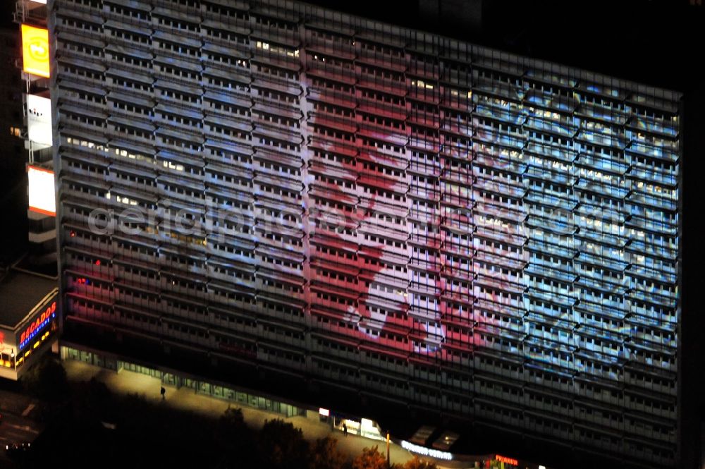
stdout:
<svg viewBox="0 0 705 469">
<path fill-rule="evenodd" d="M 439 132 L 437 106 L 422 104 L 440 99 L 430 85 L 438 68 L 427 72 L 406 97 L 405 85 L 360 83 L 348 97 L 309 79 L 311 312 L 342 319 L 346 327 L 333 329 L 361 339 L 362 348 L 450 360 L 479 340 L 472 334 L 472 191 L 464 188 L 473 176 L 458 164 L 470 150 Z M 379 92 L 392 102 L 381 107 L 367 98 Z M 333 121 L 319 112 L 321 103 L 349 108 L 350 118 Z M 458 120 L 449 126 L 471 134 Z M 335 130 L 353 140 L 331 138 Z M 331 176 L 343 183 L 329 183 Z"/>
</svg>

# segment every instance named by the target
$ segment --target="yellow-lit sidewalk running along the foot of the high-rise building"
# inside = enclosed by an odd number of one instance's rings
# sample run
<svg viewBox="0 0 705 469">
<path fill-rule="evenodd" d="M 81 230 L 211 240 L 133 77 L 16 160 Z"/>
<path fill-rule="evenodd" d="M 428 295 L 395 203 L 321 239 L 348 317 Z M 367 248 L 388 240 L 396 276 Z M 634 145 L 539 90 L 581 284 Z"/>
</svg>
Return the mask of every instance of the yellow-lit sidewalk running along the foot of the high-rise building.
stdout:
<svg viewBox="0 0 705 469">
<path fill-rule="evenodd" d="M 66 374 L 71 381 L 87 381 L 95 378 L 104 382 L 111 391 L 118 394 L 139 394 L 147 400 L 154 402 L 161 401 L 159 389 L 161 389 L 161 379 L 150 377 L 147 374 L 140 374 L 122 370 L 119 374 L 112 370 L 94 365 L 88 365 L 74 360 L 66 360 L 63 366 L 66 368 Z M 166 403 L 174 408 L 183 410 L 191 410 L 202 415 L 209 415 L 213 418 L 218 418 L 223 415 L 223 412 L 228 407 L 237 407 L 235 403 L 228 402 L 222 399 L 196 394 L 193 389 L 181 388 L 175 389 L 170 386 L 166 387 Z M 247 425 L 253 428 L 261 428 L 265 420 L 281 418 L 286 422 L 291 422 L 294 427 L 300 428 L 304 437 L 309 440 L 319 439 L 330 436 L 338 440 L 338 448 L 353 458 L 362 452 L 364 447 L 377 446 L 381 453 L 386 453 L 386 441 L 377 441 L 359 437 L 357 435 L 348 435 L 345 437 L 342 432 L 333 430 L 331 425 L 320 422 L 318 415 L 314 418 L 298 415 L 296 417 L 286 418 L 283 415 L 266 412 L 250 407 L 240 407 L 243 411 L 243 417 Z M 390 460 L 391 463 L 405 463 L 412 458 L 412 454 L 403 449 L 397 444 L 390 444 Z"/>
</svg>

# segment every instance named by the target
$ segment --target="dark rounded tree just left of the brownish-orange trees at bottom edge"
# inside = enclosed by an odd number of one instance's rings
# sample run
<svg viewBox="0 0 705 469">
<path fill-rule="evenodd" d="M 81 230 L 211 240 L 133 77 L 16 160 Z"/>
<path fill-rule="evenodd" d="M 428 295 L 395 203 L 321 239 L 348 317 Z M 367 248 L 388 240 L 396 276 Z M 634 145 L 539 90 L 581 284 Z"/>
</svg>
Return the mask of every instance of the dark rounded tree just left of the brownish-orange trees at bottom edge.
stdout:
<svg viewBox="0 0 705 469">
<path fill-rule="evenodd" d="M 308 466 L 309 445 L 301 429 L 290 422 L 281 419 L 264 422 L 257 448 L 262 467 L 302 469 Z"/>
</svg>

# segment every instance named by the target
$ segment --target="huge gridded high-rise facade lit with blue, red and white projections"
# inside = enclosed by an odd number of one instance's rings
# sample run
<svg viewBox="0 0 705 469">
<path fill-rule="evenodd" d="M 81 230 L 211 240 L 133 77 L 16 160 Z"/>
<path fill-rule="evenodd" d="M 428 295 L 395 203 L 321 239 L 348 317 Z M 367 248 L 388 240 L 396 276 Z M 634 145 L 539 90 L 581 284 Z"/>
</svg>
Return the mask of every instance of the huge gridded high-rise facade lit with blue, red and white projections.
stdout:
<svg viewBox="0 0 705 469">
<path fill-rule="evenodd" d="M 49 5 L 69 338 L 675 465 L 677 92 L 290 1 Z"/>
</svg>

